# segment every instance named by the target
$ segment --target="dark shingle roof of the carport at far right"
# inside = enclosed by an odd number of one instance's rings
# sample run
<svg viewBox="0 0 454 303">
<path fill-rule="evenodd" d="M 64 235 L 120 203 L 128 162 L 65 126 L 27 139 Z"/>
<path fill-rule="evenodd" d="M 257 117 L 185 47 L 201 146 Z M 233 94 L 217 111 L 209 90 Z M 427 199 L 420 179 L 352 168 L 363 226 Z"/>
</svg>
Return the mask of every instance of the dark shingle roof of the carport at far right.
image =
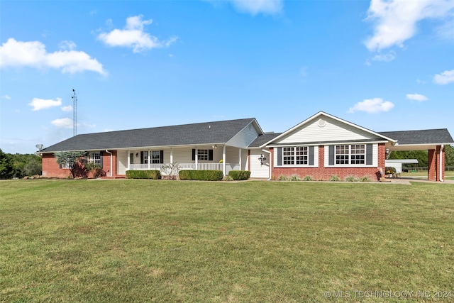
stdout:
<svg viewBox="0 0 454 303">
<path fill-rule="evenodd" d="M 397 144 L 443 144 L 454 143 L 447 128 L 425 129 L 421 131 L 384 131 L 383 136 L 397 140 Z"/>
</svg>

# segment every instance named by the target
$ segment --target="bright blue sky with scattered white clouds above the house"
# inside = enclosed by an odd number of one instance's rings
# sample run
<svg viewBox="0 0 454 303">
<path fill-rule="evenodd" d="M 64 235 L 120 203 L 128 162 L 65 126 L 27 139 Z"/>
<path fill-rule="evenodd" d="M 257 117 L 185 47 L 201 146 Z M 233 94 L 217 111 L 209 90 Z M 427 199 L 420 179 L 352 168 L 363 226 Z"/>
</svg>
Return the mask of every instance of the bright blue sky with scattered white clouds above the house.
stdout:
<svg viewBox="0 0 454 303">
<path fill-rule="evenodd" d="M 454 134 L 454 1 L 0 1 L 0 148 L 319 111 Z"/>
</svg>

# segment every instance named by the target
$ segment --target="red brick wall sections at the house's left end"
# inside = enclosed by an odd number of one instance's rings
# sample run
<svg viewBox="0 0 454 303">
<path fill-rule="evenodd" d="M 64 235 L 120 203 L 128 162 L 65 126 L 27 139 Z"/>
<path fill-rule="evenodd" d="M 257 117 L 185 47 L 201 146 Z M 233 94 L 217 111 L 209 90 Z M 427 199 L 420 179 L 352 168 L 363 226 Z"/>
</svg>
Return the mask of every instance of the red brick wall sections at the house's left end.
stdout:
<svg viewBox="0 0 454 303">
<path fill-rule="evenodd" d="M 111 155 L 105 151 L 102 153 L 102 168 L 103 175 L 109 176 L 112 169 L 112 176 L 116 175 L 117 172 L 117 152 L 116 150 L 111 151 L 112 153 L 112 167 L 111 167 Z M 43 177 L 48 178 L 67 178 L 72 177 L 71 172 L 67 168 L 60 168 L 60 165 L 55 161 L 55 156 L 53 153 L 44 153 L 43 154 Z M 92 178 L 93 175 L 91 172 L 87 173 L 87 170 L 84 169 L 83 165 L 80 165 L 76 170 L 76 177 L 82 178 Z"/>
</svg>

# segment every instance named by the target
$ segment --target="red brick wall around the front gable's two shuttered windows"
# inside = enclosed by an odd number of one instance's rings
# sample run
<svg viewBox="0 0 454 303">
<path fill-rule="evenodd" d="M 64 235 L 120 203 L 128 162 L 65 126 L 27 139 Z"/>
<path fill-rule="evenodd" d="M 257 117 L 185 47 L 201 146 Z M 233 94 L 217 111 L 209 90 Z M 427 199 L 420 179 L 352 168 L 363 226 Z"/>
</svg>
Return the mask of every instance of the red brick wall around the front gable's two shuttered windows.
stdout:
<svg viewBox="0 0 454 303">
<path fill-rule="evenodd" d="M 274 148 L 270 148 L 271 159 L 275 157 Z M 338 175 L 341 180 L 345 177 L 354 176 L 356 178 L 368 177 L 372 181 L 380 180 L 380 176 L 377 175 L 378 167 L 383 167 L 386 154 L 386 148 L 384 143 L 378 145 L 378 166 L 377 167 L 325 167 L 325 146 L 319 145 L 319 167 L 272 167 L 272 180 L 277 180 L 279 176 L 284 175 L 291 177 L 297 175 L 300 178 L 306 176 L 312 176 L 314 180 L 326 181 L 333 175 Z M 274 162 L 271 162 L 274 163 Z"/>
</svg>

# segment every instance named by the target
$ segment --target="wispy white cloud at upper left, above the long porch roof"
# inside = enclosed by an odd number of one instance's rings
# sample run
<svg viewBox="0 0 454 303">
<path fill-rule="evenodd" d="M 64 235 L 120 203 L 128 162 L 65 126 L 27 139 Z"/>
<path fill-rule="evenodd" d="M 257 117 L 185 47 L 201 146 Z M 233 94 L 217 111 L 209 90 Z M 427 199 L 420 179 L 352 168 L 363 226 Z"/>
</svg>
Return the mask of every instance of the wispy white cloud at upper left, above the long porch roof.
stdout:
<svg viewBox="0 0 454 303">
<path fill-rule="evenodd" d="M 169 40 L 160 41 L 157 37 L 145 33 L 143 27 L 151 24 L 153 20 L 143 21 L 142 17 L 142 15 L 139 15 L 127 18 L 125 28 L 114 29 L 109 33 L 100 33 L 98 40 L 110 46 L 132 48 L 134 53 L 140 53 L 152 48 L 167 48 L 178 39 L 172 37 Z"/>
</svg>

